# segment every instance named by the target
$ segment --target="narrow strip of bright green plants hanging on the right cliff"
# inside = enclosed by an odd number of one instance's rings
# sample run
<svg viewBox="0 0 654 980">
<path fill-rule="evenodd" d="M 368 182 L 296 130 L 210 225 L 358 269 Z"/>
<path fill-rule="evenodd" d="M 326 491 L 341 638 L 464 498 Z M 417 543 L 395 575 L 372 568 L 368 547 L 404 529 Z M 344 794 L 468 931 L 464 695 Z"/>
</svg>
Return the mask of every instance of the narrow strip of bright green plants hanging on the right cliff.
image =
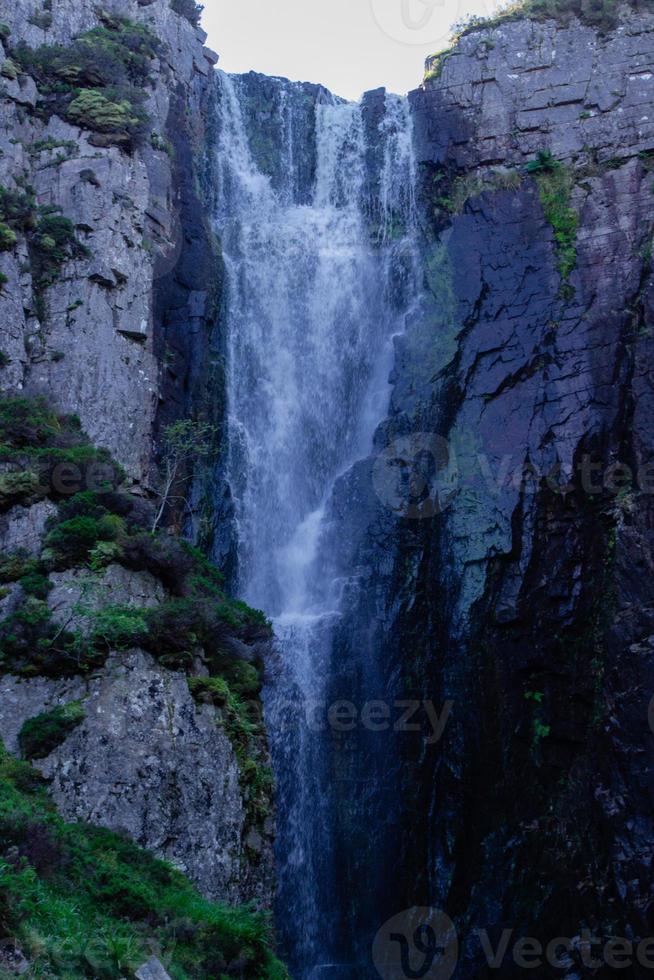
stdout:
<svg viewBox="0 0 654 980">
<path fill-rule="evenodd" d="M 554 230 L 559 272 L 565 282 L 577 264 L 579 215 L 570 207 L 572 174 L 547 150 L 541 151 L 525 169 L 538 184 L 545 218 Z"/>
</svg>

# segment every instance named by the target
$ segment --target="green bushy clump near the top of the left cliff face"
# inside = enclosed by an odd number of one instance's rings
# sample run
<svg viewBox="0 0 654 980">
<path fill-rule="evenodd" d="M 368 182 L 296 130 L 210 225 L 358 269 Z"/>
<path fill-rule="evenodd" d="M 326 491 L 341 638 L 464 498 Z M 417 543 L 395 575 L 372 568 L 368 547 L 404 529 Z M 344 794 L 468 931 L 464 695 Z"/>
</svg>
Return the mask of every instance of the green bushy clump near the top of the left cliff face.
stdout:
<svg viewBox="0 0 654 980">
<path fill-rule="evenodd" d="M 57 113 L 99 134 L 96 142 L 129 150 L 147 131 L 144 89 L 159 52 L 148 27 L 104 14 L 102 26 L 68 46 L 22 44 L 12 57 L 36 79 L 47 115 Z"/>
</svg>

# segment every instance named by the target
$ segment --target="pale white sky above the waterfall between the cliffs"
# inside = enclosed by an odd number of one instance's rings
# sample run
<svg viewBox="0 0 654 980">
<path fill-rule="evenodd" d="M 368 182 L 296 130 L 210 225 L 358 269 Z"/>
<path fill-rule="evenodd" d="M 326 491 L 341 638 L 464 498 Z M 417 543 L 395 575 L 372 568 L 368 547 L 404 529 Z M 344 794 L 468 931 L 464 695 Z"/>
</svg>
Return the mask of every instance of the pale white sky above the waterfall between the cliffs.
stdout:
<svg viewBox="0 0 654 980">
<path fill-rule="evenodd" d="M 382 85 L 399 94 L 417 88 L 427 55 L 447 47 L 451 24 L 498 7 L 497 0 L 204 2 L 220 68 L 321 82 L 347 99 Z"/>
</svg>

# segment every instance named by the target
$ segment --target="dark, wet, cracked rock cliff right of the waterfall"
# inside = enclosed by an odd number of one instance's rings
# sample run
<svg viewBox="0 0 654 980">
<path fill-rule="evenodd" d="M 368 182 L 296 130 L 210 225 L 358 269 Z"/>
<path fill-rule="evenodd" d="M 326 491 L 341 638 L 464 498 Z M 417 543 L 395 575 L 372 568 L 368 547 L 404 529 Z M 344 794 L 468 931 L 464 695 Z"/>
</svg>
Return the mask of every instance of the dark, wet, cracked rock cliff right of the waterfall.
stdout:
<svg viewBox="0 0 654 980">
<path fill-rule="evenodd" d="M 387 802 L 406 904 L 465 937 L 457 976 L 476 928 L 651 916 L 653 85 L 654 19 L 623 10 L 605 36 L 475 30 L 411 97 L 435 302 L 378 445 L 413 495 L 370 461 L 334 511 L 387 684 L 453 702 Z"/>
</svg>

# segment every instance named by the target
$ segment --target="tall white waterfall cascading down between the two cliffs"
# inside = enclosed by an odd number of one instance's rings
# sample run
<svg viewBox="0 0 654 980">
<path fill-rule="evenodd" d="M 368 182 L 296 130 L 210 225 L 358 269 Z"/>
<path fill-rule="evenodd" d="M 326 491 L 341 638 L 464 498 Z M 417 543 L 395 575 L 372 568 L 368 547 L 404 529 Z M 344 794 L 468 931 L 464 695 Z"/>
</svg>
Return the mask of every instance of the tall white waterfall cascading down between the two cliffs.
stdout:
<svg viewBox="0 0 654 980">
<path fill-rule="evenodd" d="M 371 145 L 361 105 L 314 90 L 307 132 L 306 87 L 268 81 L 278 134 L 266 173 L 244 82 L 220 75 L 217 226 L 228 278 L 238 588 L 274 619 L 278 637 L 266 692 L 278 931 L 293 975 L 305 978 L 350 957 L 335 902 L 342 842 L 330 737 L 311 714 L 328 696 L 355 578 L 336 568 L 325 512 L 335 480 L 371 451 L 393 337 L 418 293 L 415 164 L 406 100 L 385 97 Z M 309 141 L 307 184 L 299 160 Z"/>
</svg>

